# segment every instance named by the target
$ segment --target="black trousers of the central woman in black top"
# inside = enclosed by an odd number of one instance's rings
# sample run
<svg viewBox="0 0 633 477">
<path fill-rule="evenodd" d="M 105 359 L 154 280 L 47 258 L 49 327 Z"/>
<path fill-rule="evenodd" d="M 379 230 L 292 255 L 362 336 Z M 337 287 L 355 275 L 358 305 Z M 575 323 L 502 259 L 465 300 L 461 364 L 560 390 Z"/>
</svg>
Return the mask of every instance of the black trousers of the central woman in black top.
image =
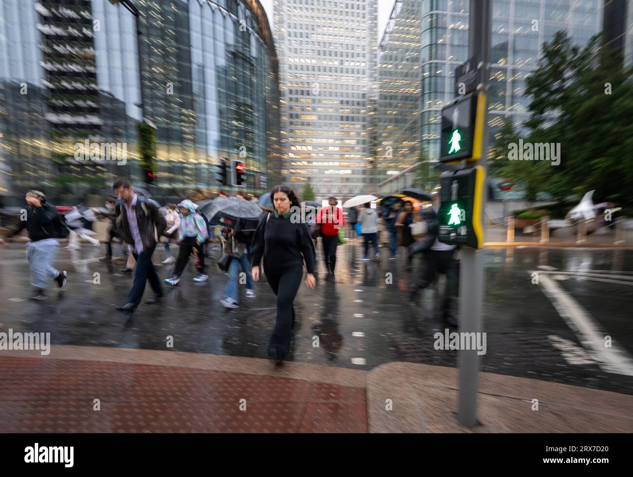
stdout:
<svg viewBox="0 0 633 477">
<path fill-rule="evenodd" d="M 275 270 L 266 268 L 266 280 L 277 295 L 277 320 L 275 329 L 268 342 L 269 351 L 288 354 L 292 323 L 294 322 L 294 307 L 292 302 L 301 285 L 303 269 Z"/>
</svg>

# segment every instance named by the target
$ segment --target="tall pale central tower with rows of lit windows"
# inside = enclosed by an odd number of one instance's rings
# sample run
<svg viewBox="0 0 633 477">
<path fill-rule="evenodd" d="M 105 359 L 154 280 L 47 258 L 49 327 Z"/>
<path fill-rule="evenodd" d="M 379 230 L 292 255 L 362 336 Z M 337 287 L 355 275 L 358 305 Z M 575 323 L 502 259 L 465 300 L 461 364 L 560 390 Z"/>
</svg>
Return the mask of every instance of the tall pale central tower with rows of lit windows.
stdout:
<svg viewBox="0 0 633 477">
<path fill-rule="evenodd" d="M 372 172 L 375 0 L 275 0 L 282 175 L 317 196 L 364 193 Z"/>
</svg>

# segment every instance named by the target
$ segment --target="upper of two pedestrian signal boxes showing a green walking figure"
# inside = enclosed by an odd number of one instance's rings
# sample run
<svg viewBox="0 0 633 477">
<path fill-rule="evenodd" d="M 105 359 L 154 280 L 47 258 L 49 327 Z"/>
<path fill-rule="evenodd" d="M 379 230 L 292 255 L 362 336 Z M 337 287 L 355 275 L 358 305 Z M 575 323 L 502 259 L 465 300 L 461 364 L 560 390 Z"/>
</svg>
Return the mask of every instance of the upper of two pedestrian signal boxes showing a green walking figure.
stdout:
<svg viewBox="0 0 633 477">
<path fill-rule="evenodd" d="M 476 161 L 486 119 L 486 95 L 472 92 L 442 108 L 440 162 Z"/>
</svg>

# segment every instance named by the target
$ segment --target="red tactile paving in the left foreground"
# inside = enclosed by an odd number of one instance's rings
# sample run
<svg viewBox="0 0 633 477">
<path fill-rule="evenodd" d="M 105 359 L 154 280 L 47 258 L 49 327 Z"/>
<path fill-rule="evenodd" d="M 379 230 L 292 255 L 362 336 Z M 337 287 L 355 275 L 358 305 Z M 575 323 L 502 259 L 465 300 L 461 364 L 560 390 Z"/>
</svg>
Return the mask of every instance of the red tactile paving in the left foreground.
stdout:
<svg viewBox="0 0 633 477">
<path fill-rule="evenodd" d="M 0 432 L 368 432 L 365 389 L 328 383 L 12 357 L 0 383 Z"/>
</svg>

